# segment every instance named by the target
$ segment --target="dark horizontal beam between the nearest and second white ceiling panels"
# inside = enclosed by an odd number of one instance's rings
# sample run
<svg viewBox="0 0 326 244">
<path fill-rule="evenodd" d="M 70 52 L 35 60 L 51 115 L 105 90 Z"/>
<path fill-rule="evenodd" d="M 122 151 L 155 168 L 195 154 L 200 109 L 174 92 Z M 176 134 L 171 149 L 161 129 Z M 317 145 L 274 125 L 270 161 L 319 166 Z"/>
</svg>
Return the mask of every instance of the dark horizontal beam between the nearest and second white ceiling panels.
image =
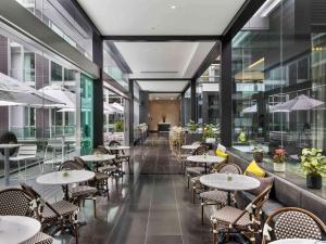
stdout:
<svg viewBox="0 0 326 244">
<path fill-rule="evenodd" d="M 222 36 L 102 36 L 103 40 L 114 42 L 158 42 L 158 41 L 218 41 Z"/>
</svg>

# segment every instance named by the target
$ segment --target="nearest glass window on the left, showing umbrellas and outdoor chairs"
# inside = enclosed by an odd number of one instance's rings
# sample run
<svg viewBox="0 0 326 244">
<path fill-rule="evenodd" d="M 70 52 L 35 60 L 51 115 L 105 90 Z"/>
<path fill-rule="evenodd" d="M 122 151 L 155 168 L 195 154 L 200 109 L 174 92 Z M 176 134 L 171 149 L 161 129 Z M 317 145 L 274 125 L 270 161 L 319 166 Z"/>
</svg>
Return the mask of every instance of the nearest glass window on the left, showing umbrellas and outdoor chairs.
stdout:
<svg viewBox="0 0 326 244">
<path fill-rule="evenodd" d="M 37 157 L 27 164 L 62 162 L 79 155 L 86 140 L 92 145 L 92 80 L 3 24 L 0 42 L 1 84 L 17 84 L 14 89 L 0 86 L 0 134 L 11 131 L 18 143 L 37 145 Z M 11 169 L 16 169 L 14 163 Z"/>
</svg>

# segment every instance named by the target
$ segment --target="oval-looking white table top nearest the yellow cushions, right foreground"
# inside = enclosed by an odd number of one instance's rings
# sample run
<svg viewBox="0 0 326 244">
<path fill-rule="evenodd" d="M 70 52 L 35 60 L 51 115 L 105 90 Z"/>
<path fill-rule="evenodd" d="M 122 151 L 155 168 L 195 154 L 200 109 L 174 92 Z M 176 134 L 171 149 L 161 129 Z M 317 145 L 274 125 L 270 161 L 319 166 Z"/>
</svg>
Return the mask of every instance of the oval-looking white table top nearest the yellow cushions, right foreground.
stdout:
<svg viewBox="0 0 326 244">
<path fill-rule="evenodd" d="M 231 177 L 228 180 L 228 177 Z M 260 181 L 248 176 L 235 174 L 210 174 L 200 177 L 200 182 L 210 188 L 216 188 L 226 191 L 247 191 L 260 187 Z"/>
</svg>

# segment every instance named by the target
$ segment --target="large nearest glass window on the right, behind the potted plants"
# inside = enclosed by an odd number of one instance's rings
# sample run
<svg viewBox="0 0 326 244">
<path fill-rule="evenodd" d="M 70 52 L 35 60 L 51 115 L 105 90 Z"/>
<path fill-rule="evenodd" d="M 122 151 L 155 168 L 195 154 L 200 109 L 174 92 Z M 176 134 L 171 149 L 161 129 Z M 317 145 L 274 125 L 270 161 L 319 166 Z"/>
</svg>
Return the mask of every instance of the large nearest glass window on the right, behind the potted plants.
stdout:
<svg viewBox="0 0 326 244">
<path fill-rule="evenodd" d="M 283 146 L 287 170 L 300 176 L 302 149 L 326 150 L 324 7 L 267 0 L 233 39 L 234 147 L 261 143 L 272 163 Z"/>
</svg>

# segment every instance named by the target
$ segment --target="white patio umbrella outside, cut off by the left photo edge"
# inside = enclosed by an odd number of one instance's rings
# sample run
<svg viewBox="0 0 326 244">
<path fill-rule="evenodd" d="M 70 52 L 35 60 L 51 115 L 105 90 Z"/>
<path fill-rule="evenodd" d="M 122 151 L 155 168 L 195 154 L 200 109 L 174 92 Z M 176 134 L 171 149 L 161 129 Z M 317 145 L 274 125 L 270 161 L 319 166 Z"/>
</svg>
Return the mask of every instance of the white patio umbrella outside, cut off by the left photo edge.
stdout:
<svg viewBox="0 0 326 244">
<path fill-rule="evenodd" d="M 61 103 L 53 98 L 43 95 L 25 82 L 18 81 L 2 73 L 0 73 L 0 101 L 14 102 L 29 106 Z"/>
</svg>

